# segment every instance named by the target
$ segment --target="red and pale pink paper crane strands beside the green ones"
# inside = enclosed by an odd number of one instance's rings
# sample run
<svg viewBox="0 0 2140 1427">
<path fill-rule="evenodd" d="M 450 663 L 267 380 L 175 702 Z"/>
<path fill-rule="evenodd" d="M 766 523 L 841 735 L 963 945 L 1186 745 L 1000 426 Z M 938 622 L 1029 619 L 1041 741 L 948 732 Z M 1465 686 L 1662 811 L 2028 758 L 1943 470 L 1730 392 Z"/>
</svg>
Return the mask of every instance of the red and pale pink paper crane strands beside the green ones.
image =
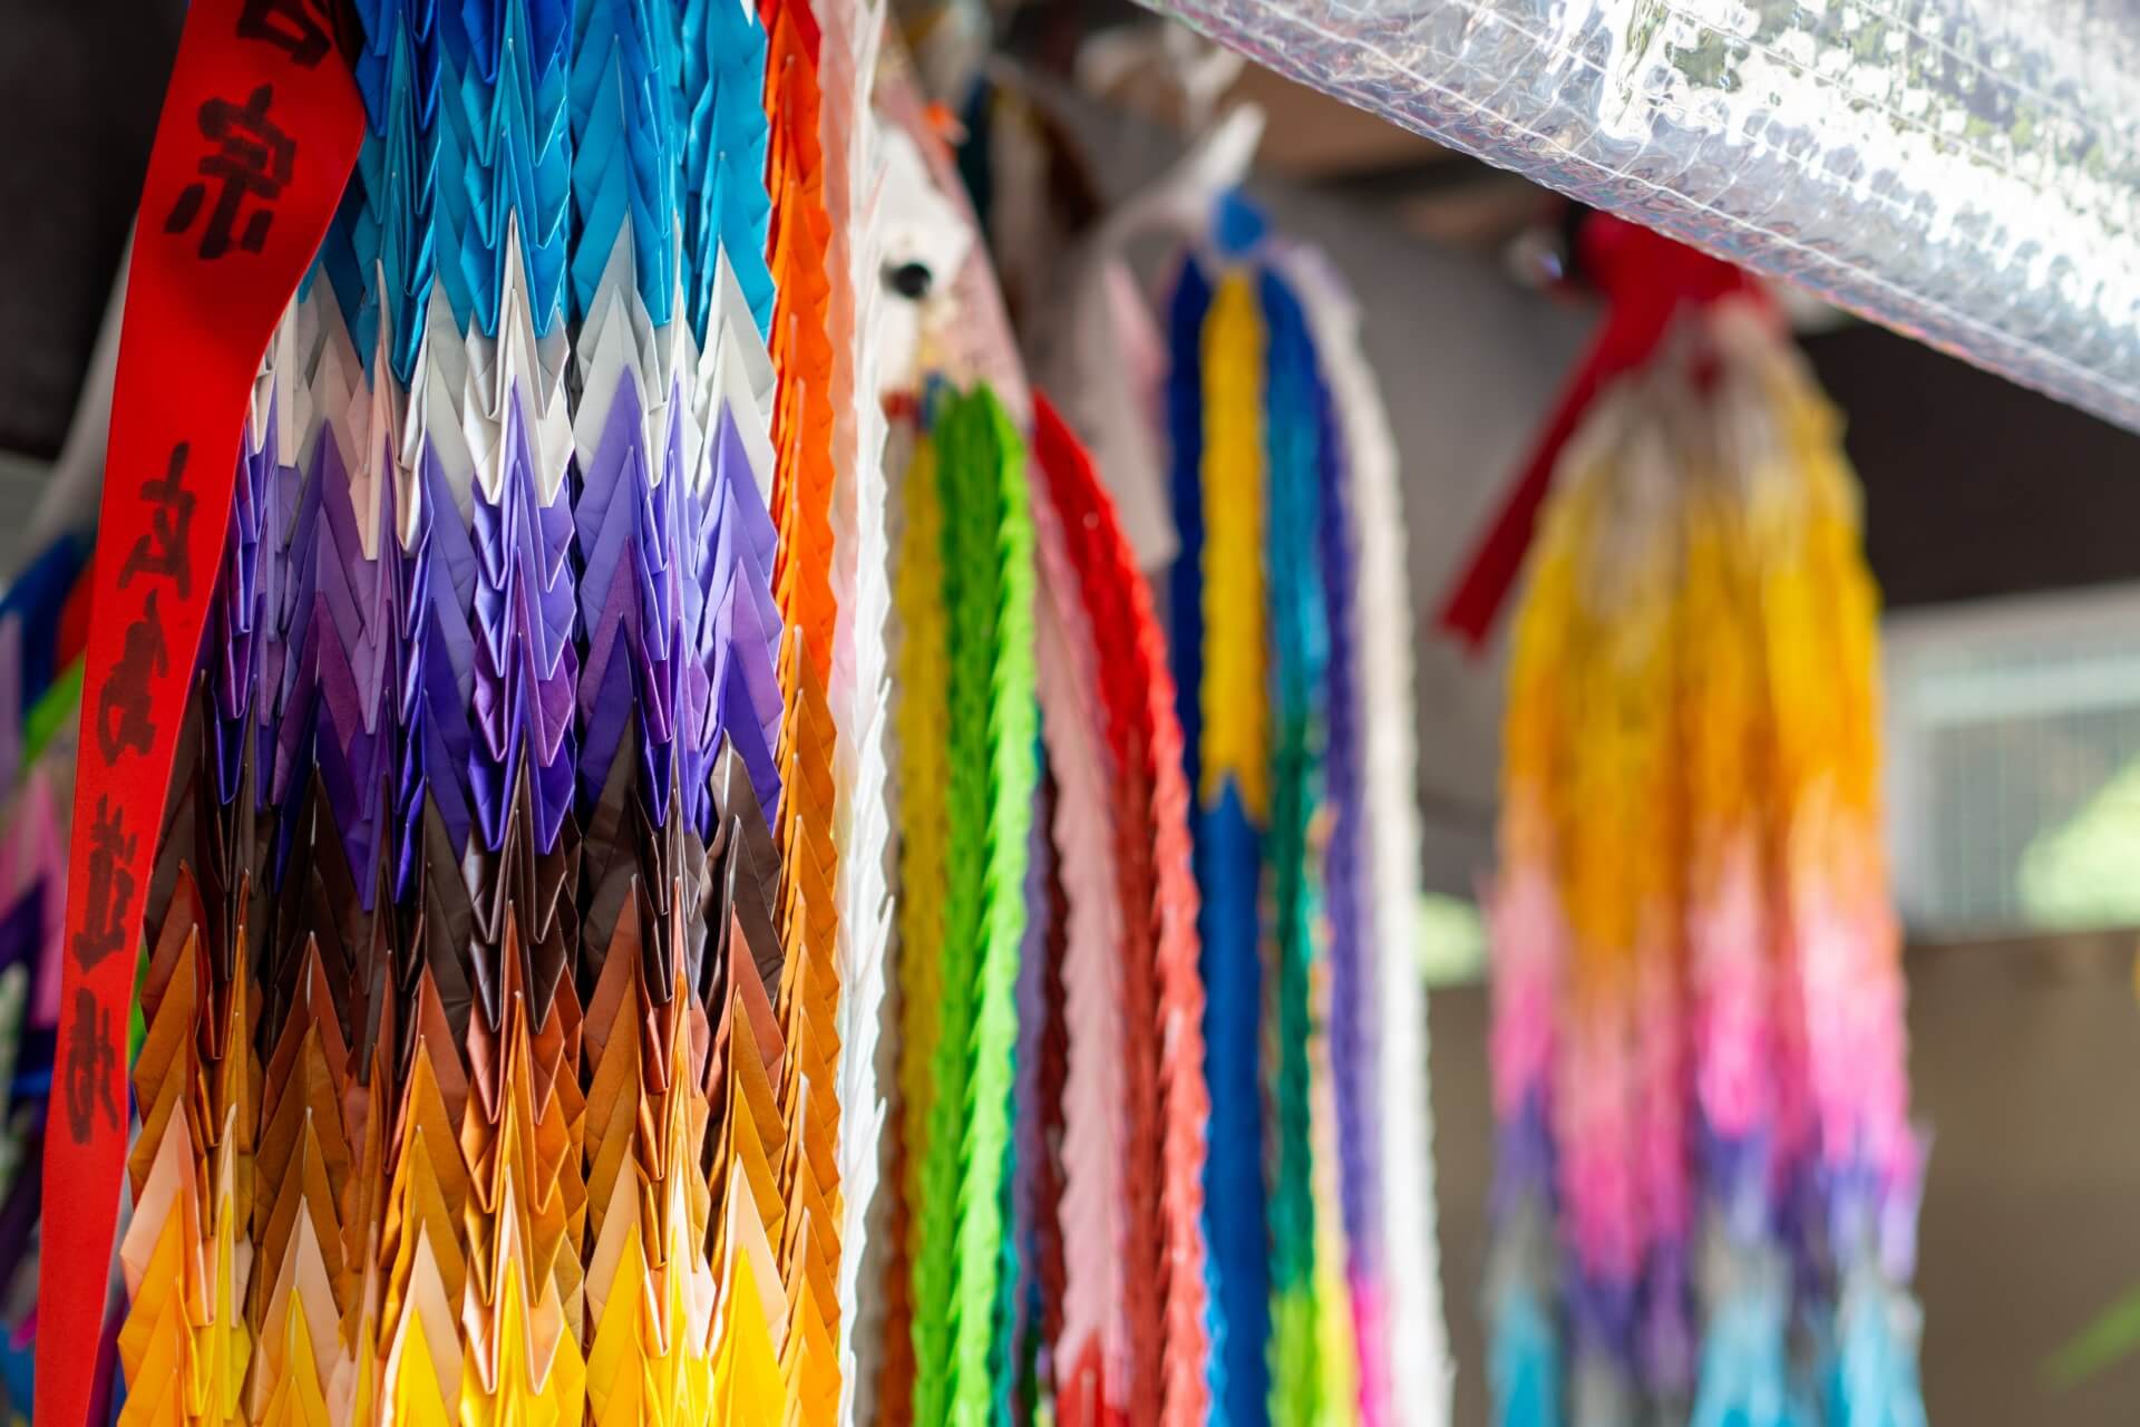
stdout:
<svg viewBox="0 0 2140 1427">
<path fill-rule="evenodd" d="M 1072 918 L 1057 1414 L 1201 1423 L 1213 1406 L 1211 1102 L 1181 732 L 1149 588 L 1091 458 L 1046 398 L 1034 441 L 1049 576 L 1042 708 Z"/>
</svg>

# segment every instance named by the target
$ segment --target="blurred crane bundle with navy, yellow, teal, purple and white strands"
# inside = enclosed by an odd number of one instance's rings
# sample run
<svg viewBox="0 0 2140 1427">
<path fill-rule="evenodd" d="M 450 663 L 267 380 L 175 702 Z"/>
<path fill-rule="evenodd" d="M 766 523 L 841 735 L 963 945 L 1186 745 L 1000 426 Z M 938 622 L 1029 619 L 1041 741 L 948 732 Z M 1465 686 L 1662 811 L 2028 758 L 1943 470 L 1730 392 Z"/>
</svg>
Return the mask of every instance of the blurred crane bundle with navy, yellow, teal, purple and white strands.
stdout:
<svg viewBox="0 0 2140 1427">
<path fill-rule="evenodd" d="M 1425 1008 L 1402 950 L 1417 815 L 1387 426 L 1342 289 L 1239 199 L 1218 203 L 1207 252 L 1186 259 L 1168 329 L 1166 588 L 1203 896 L 1213 1391 L 1235 1423 L 1440 1423 Z"/>
</svg>

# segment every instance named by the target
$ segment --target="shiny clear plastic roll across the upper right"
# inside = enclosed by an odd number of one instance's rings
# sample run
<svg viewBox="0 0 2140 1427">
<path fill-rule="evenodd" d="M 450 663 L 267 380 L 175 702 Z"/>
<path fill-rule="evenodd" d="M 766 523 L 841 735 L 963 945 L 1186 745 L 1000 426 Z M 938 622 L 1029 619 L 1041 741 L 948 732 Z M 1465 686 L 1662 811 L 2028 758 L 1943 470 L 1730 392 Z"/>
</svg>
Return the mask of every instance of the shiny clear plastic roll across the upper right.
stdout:
<svg viewBox="0 0 2140 1427">
<path fill-rule="evenodd" d="M 2140 430 L 2136 0 L 1145 0 Z"/>
</svg>

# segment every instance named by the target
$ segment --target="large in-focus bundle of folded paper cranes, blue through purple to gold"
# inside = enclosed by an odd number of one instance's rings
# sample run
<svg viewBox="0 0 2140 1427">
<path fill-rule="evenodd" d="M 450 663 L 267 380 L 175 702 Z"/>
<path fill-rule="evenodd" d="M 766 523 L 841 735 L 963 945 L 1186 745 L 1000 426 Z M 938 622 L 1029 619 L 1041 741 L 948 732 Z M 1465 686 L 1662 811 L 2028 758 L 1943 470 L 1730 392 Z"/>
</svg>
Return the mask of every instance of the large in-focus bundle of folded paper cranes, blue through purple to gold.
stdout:
<svg viewBox="0 0 2140 1427">
<path fill-rule="evenodd" d="M 124 1414 L 824 1421 L 815 26 L 360 21 L 150 896 Z"/>
</svg>

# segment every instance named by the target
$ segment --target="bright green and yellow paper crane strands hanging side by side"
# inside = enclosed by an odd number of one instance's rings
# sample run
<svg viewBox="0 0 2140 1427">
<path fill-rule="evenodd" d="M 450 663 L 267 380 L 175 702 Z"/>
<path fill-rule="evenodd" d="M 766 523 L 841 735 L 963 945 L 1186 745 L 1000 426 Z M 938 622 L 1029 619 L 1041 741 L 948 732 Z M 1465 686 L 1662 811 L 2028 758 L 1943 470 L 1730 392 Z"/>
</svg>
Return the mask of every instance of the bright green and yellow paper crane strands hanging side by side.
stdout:
<svg viewBox="0 0 2140 1427">
<path fill-rule="evenodd" d="M 931 394 L 905 479 L 912 809 L 901 943 L 914 1423 L 987 1421 L 1010 1374 L 1019 971 L 1038 766 L 1025 451 L 987 389 Z M 931 747 L 935 745 L 935 747 Z M 933 759 L 942 759 L 929 768 Z M 929 905 L 924 905 L 929 903 Z"/>
</svg>

